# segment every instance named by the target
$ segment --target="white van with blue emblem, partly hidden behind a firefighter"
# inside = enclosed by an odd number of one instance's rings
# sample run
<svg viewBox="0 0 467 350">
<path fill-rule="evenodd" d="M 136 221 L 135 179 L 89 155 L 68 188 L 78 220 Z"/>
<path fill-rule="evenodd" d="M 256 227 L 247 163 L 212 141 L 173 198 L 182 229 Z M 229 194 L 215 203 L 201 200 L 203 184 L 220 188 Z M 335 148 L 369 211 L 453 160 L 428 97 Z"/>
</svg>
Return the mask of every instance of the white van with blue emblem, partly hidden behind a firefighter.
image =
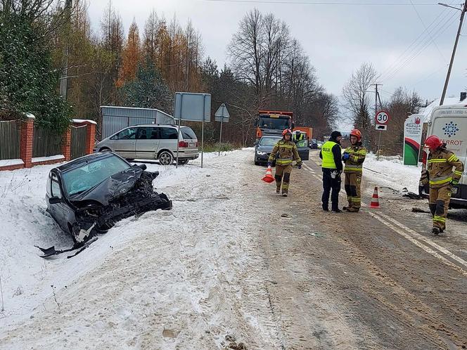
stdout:
<svg viewBox="0 0 467 350">
<path fill-rule="evenodd" d="M 433 109 L 428 123 L 427 136 L 436 135 L 446 143 L 446 147 L 452 150 L 463 162 L 464 171 L 459 185 L 452 188 L 450 207 L 467 208 L 467 105 L 440 105 Z M 426 159 L 426 157 L 423 157 Z M 423 189 L 426 197 L 429 188 Z"/>
</svg>

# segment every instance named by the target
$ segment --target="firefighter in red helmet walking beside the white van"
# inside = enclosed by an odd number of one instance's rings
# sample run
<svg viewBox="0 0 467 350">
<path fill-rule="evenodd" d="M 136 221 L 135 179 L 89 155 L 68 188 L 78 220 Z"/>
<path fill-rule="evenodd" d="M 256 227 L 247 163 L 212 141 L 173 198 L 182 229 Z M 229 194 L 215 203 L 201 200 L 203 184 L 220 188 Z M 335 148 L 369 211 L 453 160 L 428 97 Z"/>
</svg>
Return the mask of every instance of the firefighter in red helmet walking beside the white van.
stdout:
<svg viewBox="0 0 467 350">
<path fill-rule="evenodd" d="M 428 136 L 425 147 L 430 149 L 428 167 L 422 171 L 421 186 L 430 185 L 430 212 L 433 215 L 435 235 L 446 228 L 447 209 L 451 200 L 452 186 L 459 183 L 463 173 L 463 164 L 446 144 L 435 135 Z M 452 168 L 454 168 L 454 171 Z"/>
</svg>

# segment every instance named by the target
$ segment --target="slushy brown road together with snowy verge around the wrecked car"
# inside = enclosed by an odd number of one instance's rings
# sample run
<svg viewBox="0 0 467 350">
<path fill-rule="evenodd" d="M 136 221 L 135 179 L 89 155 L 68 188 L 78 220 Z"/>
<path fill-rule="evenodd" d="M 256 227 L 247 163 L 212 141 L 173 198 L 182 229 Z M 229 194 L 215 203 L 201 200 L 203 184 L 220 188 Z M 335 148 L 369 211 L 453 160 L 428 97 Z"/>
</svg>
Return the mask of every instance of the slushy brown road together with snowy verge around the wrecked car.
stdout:
<svg viewBox="0 0 467 350">
<path fill-rule="evenodd" d="M 161 171 L 154 184 L 172 211 L 124 220 L 77 257 L 50 261 L 33 245 L 70 245 L 44 213 L 51 167 L 2 174 L 0 349 L 467 345 L 461 265 L 443 264 L 367 212 L 321 212 L 314 162 L 293 171 L 283 198 L 252 158 L 247 149 L 207 155 L 204 169 L 148 164 Z M 371 188 L 375 178 L 366 181 Z M 381 214 L 397 205 L 394 217 L 426 226 L 397 196 L 383 200 Z M 465 222 L 452 224 L 438 243 L 466 259 Z"/>
</svg>

